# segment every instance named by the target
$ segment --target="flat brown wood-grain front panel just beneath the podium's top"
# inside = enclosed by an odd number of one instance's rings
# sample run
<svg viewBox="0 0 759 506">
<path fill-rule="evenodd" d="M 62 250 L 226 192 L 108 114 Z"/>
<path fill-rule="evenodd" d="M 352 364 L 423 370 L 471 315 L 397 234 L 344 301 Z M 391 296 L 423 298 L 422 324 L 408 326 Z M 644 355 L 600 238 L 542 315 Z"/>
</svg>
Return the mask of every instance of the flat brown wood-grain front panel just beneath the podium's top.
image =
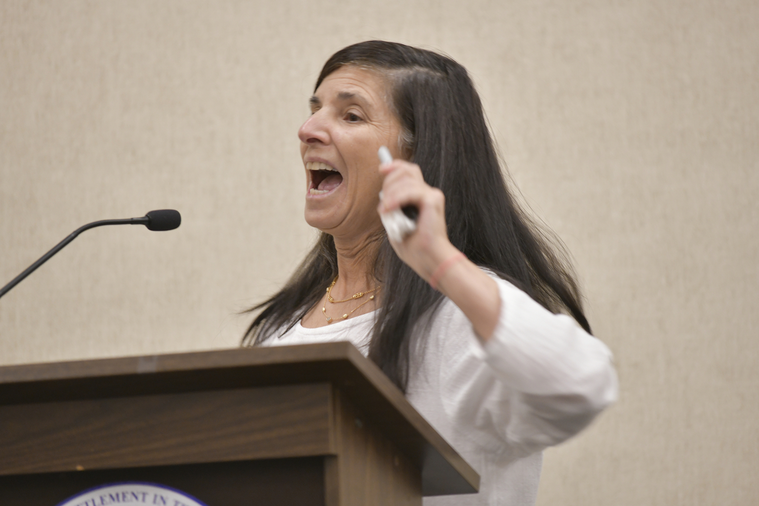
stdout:
<svg viewBox="0 0 759 506">
<path fill-rule="evenodd" d="M 0 406 L 0 475 L 333 452 L 330 385 Z"/>
</svg>

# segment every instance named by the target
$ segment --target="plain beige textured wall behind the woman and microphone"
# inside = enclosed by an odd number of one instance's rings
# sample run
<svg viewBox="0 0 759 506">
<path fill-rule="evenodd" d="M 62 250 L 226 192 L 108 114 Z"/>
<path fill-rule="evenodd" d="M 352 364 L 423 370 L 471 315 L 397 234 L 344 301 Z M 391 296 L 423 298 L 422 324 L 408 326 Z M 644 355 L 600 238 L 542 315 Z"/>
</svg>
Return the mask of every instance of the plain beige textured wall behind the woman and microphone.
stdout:
<svg viewBox="0 0 759 506">
<path fill-rule="evenodd" d="M 759 504 L 759 3 L 0 2 L 0 363 L 233 347 L 307 250 L 295 132 L 320 65 L 383 38 L 471 71 L 568 244 L 619 404 L 539 504 Z"/>
</svg>

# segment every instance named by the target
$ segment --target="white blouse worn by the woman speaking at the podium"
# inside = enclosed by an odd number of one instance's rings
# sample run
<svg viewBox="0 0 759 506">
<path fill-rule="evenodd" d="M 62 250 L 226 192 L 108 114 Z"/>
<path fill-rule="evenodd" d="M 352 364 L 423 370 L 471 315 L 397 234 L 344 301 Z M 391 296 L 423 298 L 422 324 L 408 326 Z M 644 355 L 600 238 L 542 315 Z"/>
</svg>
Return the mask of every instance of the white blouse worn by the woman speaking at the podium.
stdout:
<svg viewBox="0 0 759 506">
<path fill-rule="evenodd" d="M 612 355 L 575 320 L 496 278 L 501 314 L 484 346 L 451 300 L 412 350 L 406 398 L 480 473 L 480 493 L 424 506 L 535 504 L 541 451 L 577 434 L 616 401 Z M 367 354 L 374 313 L 320 328 L 300 322 L 265 346 L 351 341 Z"/>
</svg>

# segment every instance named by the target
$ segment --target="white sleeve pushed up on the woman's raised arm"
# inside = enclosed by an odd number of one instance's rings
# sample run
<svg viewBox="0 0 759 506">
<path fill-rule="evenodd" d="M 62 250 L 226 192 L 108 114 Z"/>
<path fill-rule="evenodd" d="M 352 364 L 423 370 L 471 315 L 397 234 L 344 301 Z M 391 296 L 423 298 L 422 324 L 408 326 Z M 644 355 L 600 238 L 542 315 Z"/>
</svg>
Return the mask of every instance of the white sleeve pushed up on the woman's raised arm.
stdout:
<svg viewBox="0 0 759 506">
<path fill-rule="evenodd" d="M 442 404 L 480 445 L 531 454 L 575 435 L 616 401 L 616 372 L 606 345 L 573 319 L 496 282 L 501 313 L 484 346 L 458 308 L 441 308 L 433 340 Z"/>
</svg>

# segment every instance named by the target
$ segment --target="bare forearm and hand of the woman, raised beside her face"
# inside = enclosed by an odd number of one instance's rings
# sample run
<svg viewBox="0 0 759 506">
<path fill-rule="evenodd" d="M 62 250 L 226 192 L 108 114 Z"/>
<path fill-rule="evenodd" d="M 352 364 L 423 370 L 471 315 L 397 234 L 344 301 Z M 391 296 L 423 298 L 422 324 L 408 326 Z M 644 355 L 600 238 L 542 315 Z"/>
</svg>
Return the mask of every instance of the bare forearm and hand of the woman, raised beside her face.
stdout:
<svg viewBox="0 0 759 506">
<path fill-rule="evenodd" d="M 465 257 L 448 240 L 445 197 L 424 182 L 418 165 L 394 160 L 381 165 L 385 174 L 379 212 L 413 204 L 419 209 L 417 231 L 402 243 L 391 241 L 398 256 L 425 281 L 433 281 L 467 316 L 474 332 L 487 342 L 496 328 L 501 299 L 496 281 Z"/>
</svg>

